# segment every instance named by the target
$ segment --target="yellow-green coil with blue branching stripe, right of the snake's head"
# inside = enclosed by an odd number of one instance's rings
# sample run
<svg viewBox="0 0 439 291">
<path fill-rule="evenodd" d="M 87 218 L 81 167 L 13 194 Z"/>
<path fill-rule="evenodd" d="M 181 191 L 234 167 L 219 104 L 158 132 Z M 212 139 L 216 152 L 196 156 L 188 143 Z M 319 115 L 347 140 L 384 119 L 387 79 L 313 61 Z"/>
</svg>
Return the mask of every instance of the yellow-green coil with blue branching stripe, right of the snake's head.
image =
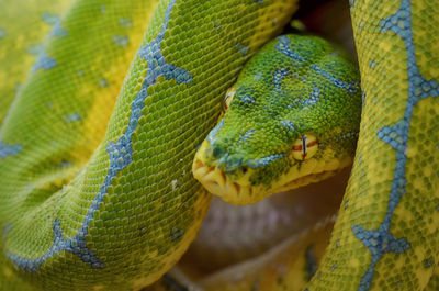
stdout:
<svg viewBox="0 0 439 291">
<path fill-rule="evenodd" d="M 330 244 L 306 290 L 436 290 L 438 8 L 350 4 L 363 89 L 360 137 Z"/>
</svg>

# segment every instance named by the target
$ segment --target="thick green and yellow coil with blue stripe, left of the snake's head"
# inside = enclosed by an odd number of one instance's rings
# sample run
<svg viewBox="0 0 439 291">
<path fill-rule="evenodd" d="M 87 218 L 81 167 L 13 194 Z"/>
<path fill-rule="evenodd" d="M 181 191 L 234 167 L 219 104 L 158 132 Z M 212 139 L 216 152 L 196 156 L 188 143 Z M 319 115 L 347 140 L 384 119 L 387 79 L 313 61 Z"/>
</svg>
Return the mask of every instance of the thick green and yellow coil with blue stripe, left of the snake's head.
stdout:
<svg viewBox="0 0 439 291">
<path fill-rule="evenodd" d="M 175 265 L 211 199 L 195 148 L 294 9 L 75 1 L 0 130 L 1 288 L 136 290 Z"/>
</svg>

